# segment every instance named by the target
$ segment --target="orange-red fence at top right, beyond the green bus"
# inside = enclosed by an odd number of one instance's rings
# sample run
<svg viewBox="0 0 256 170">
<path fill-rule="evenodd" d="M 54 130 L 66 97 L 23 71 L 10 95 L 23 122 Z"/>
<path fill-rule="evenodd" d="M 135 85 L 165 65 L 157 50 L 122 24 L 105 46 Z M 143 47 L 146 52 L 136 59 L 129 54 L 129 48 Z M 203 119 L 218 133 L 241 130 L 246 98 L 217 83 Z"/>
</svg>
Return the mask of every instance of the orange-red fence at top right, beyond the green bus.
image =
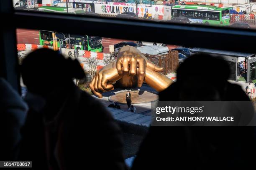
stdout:
<svg viewBox="0 0 256 170">
<path fill-rule="evenodd" d="M 256 24 L 256 17 L 254 14 L 230 14 L 230 23 L 248 23 Z"/>
</svg>

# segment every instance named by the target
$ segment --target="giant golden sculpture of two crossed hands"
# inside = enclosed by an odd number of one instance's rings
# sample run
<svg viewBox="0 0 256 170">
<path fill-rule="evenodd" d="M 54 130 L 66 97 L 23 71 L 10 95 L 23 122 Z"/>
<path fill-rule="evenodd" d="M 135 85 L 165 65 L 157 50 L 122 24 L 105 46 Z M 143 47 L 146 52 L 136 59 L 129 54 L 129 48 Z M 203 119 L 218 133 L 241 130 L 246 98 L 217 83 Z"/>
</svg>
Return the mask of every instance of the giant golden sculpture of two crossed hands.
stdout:
<svg viewBox="0 0 256 170">
<path fill-rule="evenodd" d="M 113 83 L 119 87 L 141 87 L 143 82 L 162 91 L 172 84 L 172 80 L 163 75 L 162 67 L 154 65 L 136 47 L 125 46 L 118 52 L 118 60 L 96 72 L 90 83 L 92 92 L 102 98 L 102 92 L 114 89 Z"/>
</svg>

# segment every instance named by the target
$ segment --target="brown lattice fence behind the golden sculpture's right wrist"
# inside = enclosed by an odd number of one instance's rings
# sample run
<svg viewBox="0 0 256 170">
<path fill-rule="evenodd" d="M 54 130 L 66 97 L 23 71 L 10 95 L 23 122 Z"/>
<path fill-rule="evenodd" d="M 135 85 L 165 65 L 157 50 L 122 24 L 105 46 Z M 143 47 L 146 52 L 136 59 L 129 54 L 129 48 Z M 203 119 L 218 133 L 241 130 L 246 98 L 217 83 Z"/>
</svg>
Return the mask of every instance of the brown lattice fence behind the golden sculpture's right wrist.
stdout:
<svg viewBox="0 0 256 170">
<path fill-rule="evenodd" d="M 164 55 L 150 55 L 143 54 L 148 60 L 153 62 L 155 65 L 164 67 L 161 73 L 167 75 L 171 72 L 175 72 L 179 66 L 178 51 L 170 50 L 168 54 Z"/>
</svg>

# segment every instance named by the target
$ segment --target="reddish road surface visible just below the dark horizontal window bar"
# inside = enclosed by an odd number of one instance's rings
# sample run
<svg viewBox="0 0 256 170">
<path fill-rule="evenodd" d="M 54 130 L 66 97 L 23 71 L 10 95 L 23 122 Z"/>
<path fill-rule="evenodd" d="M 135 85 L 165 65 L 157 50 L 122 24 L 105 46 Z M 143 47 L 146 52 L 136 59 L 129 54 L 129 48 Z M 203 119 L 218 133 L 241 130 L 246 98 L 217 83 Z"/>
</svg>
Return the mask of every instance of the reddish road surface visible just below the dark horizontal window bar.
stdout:
<svg viewBox="0 0 256 170">
<path fill-rule="evenodd" d="M 18 44 L 39 44 L 39 30 L 26 30 L 26 29 L 17 29 L 17 43 Z M 109 53 L 109 45 L 114 45 L 123 41 L 131 41 L 131 40 L 120 40 L 114 38 L 105 38 L 102 37 L 102 45 L 104 47 L 103 52 Z M 136 41 L 133 41 L 136 42 Z M 167 45 L 169 49 L 173 49 L 177 47 L 176 45 Z"/>
</svg>

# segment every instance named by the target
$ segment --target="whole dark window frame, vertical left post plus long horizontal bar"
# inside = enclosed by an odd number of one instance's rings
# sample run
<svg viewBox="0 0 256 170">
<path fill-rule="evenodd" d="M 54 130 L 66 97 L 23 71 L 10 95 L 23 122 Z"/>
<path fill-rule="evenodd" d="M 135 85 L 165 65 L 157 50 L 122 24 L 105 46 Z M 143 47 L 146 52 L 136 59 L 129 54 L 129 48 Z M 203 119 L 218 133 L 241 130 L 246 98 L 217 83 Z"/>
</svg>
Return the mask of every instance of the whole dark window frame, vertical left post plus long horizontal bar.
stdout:
<svg viewBox="0 0 256 170">
<path fill-rule="evenodd" d="M 0 71 L 1 75 L 16 90 L 20 89 L 20 73 L 15 43 L 16 28 L 56 30 L 71 34 L 90 32 L 90 35 L 100 37 L 148 42 L 154 40 L 154 42 L 188 47 L 255 53 L 253 42 L 256 39 L 256 30 L 128 20 L 124 18 L 103 18 L 89 15 L 14 11 L 13 2 L 6 0 L 0 1 L 0 13 L 3 16 L 3 23 L 8 23 L 2 25 L 3 31 L 0 33 L 3 48 L 3 55 L 0 56 Z M 66 25 L 63 25 L 63 23 L 66 23 Z M 70 30 L 74 30 L 74 28 L 75 32 L 71 32 Z M 222 44 L 222 39 L 225 40 L 225 44 Z"/>
</svg>

